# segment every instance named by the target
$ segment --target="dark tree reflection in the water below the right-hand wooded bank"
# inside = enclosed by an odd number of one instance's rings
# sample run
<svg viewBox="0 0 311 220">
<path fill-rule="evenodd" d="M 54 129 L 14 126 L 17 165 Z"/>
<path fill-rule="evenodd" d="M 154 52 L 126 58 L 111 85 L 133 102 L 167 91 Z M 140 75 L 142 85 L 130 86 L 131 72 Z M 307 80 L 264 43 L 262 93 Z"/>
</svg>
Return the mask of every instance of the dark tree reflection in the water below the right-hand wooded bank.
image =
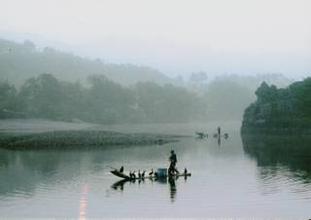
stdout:
<svg viewBox="0 0 311 220">
<path fill-rule="evenodd" d="M 284 165 L 295 177 L 311 181 L 310 138 L 242 136 L 242 140 L 244 152 L 255 158 L 259 167 L 269 168 L 267 175 L 273 175 L 278 165 Z"/>
</svg>

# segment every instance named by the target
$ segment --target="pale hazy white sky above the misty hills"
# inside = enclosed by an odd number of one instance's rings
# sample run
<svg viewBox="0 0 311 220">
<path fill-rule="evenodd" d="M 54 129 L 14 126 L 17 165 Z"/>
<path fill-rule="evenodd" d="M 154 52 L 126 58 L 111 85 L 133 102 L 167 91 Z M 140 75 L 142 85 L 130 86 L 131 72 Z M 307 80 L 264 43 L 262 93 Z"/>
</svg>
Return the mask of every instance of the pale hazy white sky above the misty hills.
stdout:
<svg viewBox="0 0 311 220">
<path fill-rule="evenodd" d="M 0 37 L 168 74 L 311 75 L 309 0 L 0 0 Z"/>
</svg>

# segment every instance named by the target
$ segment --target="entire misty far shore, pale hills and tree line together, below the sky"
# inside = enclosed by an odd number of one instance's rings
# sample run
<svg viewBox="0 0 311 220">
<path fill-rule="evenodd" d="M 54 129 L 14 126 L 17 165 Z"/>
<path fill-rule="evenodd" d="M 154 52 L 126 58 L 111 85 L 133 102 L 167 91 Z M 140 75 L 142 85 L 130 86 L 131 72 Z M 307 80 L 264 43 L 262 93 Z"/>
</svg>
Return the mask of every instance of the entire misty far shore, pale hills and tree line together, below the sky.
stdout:
<svg viewBox="0 0 311 220">
<path fill-rule="evenodd" d="M 39 50 L 30 41 L 0 40 L 0 118 L 241 120 L 263 80 L 280 87 L 291 82 L 281 74 L 210 78 L 202 71 L 189 80 L 171 79 L 149 67 L 107 64 L 51 48 Z"/>
</svg>

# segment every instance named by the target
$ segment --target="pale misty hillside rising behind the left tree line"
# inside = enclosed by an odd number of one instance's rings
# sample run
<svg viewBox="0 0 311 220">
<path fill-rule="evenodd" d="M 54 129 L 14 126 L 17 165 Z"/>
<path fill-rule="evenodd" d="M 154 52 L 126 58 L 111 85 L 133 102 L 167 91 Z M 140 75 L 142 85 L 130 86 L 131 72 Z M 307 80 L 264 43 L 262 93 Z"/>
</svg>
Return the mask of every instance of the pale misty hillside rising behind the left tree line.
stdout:
<svg viewBox="0 0 311 220">
<path fill-rule="evenodd" d="M 104 63 L 52 48 L 39 50 L 30 41 L 21 44 L 0 39 L 0 80 L 8 80 L 19 86 L 26 79 L 43 73 L 71 82 L 85 82 L 89 75 L 105 75 L 126 86 L 138 81 L 152 81 L 161 85 L 173 81 L 150 67 Z"/>
</svg>

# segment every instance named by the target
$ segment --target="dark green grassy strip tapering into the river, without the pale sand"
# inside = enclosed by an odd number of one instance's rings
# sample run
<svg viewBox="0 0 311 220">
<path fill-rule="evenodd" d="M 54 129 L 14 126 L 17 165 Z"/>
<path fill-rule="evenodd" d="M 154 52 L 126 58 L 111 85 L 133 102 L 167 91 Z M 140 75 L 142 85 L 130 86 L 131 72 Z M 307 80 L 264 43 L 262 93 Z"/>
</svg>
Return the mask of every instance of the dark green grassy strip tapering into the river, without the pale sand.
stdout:
<svg viewBox="0 0 311 220">
<path fill-rule="evenodd" d="M 6 149 L 102 148 L 115 145 L 157 145 L 176 142 L 181 136 L 124 134 L 111 131 L 72 130 L 43 133 L 2 133 L 0 147 Z"/>
</svg>

